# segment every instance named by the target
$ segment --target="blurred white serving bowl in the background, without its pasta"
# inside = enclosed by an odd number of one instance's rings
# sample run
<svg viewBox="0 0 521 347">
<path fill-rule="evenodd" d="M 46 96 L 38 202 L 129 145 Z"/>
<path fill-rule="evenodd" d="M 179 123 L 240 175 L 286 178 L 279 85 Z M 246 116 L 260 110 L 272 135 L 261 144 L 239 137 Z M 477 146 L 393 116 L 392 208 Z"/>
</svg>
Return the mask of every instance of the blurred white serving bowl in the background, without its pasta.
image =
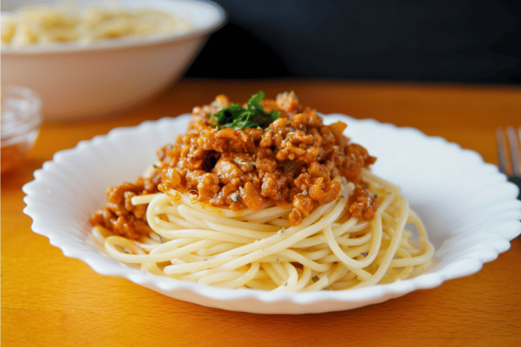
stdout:
<svg viewBox="0 0 521 347">
<path fill-rule="evenodd" d="M 2 11 L 31 2 L 62 1 L 4 0 Z M 76 1 L 78 6 L 94 2 Z M 42 114 L 47 121 L 113 114 L 142 103 L 181 77 L 210 34 L 225 20 L 223 9 L 205 0 L 118 2 L 129 8 L 156 8 L 186 17 L 194 28 L 181 36 L 96 41 L 87 46 L 3 46 L 1 84 L 34 90 L 41 96 Z"/>
</svg>

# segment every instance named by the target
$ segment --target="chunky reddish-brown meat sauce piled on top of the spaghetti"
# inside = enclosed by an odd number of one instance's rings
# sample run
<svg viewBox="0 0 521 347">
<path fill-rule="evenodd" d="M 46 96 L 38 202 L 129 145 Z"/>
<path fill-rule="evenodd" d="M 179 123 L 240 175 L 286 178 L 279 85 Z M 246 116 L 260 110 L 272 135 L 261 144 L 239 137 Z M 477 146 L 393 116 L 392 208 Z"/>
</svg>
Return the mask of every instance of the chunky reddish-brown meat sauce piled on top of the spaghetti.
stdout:
<svg viewBox="0 0 521 347">
<path fill-rule="evenodd" d="M 265 112 L 280 112 L 265 128 L 212 124 L 210 115 L 231 105 L 224 95 L 194 108 L 186 133 L 159 149 L 159 165 L 133 184 L 110 187 L 108 204 L 94 213 L 90 223 L 137 239 L 151 230 L 144 219 L 147 206 L 134 206 L 131 198 L 175 190 L 233 210 L 291 204 L 289 221 L 297 226 L 315 205 L 338 198 L 341 186 L 333 180 L 338 176 L 355 184 L 348 213 L 373 219 L 378 202 L 360 173 L 376 158 L 342 135 L 346 124 L 324 125 L 314 110 L 300 105 L 293 92 L 260 104 Z"/>
</svg>

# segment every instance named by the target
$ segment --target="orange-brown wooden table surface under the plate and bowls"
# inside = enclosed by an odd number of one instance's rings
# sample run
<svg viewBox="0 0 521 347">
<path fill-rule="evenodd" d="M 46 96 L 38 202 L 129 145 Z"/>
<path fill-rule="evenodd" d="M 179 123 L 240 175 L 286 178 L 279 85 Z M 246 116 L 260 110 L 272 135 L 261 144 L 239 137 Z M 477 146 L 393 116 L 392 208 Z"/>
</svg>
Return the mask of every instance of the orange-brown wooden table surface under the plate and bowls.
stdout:
<svg viewBox="0 0 521 347">
<path fill-rule="evenodd" d="M 413 126 L 496 163 L 494 129 L 521 125 L 521 89 L 349 81 L 182 80 L 116 117 L 45 124 L 1 177 L 2 346 L 521 346 L 521 237 L 477 274 L 351 311 L 297 316 L 211 309 L 101 276 L 31 232 L 22 185 L 52 154 L 117 126 L 190 112 L 226 93 L 294 90 L 321 112 Z"/>
</svg>

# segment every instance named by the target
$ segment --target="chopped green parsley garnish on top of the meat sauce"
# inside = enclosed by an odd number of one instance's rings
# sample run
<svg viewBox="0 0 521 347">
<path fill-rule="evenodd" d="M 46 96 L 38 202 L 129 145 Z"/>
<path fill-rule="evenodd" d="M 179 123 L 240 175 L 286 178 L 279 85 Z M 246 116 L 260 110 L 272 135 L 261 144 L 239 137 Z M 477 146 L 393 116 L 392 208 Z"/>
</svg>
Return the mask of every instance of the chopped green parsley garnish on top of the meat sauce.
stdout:
<svg viewBox="0 0 521 347">
<path fill-rule="evenodd" d="M 279 118 L 279 111 L 267 113 L 264 106 L 259 105 L 264 99 L 264 92 L 259 91 L 252 95 L 243 108 L 238 103 L 232 103 L 215 114 L 210 114 L 212 128 L 233 128 L 235 130 L 244 128 L 267 128 L 275 119 Z"/>
</svg>

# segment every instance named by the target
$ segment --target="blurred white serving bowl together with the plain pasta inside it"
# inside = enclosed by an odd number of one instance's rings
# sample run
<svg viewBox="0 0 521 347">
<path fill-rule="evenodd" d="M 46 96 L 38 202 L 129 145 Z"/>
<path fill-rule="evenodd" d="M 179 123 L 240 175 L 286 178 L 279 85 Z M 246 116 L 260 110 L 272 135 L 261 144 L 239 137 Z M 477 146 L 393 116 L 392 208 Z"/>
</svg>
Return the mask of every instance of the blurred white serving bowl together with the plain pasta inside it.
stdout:
<svg viewBox="0 0 521 347">
<path fill-rule="evenodd" d="M 177 81 L 225 21 L 211 1 L 2 1 L 2 84 L 43 100 L 46 121 L 106 117 Z M 30 10 L 19 6 L 38 3 Z M 43 7 L 41 7 L 43 6 Z M 93 7 L 94 6 L 94 7 Z"/>
</svg>

